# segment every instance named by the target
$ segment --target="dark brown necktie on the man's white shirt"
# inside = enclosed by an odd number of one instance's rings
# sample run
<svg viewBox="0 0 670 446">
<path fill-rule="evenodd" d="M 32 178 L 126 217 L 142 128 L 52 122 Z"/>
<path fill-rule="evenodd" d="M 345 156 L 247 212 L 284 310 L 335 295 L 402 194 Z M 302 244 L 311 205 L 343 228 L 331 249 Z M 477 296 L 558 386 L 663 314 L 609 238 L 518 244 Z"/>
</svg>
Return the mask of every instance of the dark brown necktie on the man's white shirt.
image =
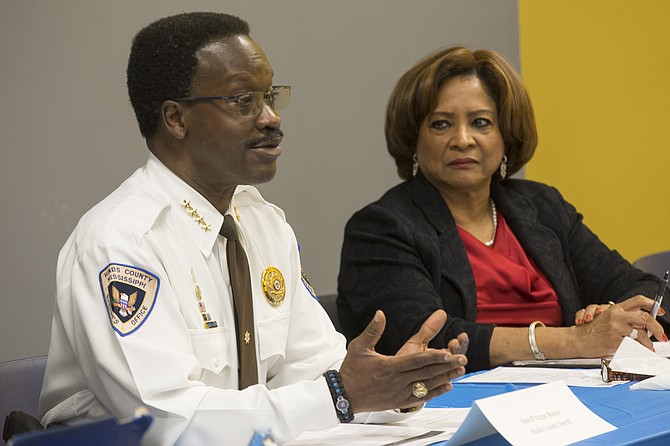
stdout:
<svg viewBox="0 0 670 446">
<path fill-rule="evenodd" d="M 249 262 L 242 243 L 237 237 L 237 228 L 230 214 L 223 218 L 219 233 L 228 240 L 226 257 L 230 285 L 235 306 L 235 332 L 237 334 L 237 357 L 239 362 L 240 389 L 258 384 L 256 364 L 256 341 L 254 336 L 254 306 L 251 295 Z"/>
</svg>

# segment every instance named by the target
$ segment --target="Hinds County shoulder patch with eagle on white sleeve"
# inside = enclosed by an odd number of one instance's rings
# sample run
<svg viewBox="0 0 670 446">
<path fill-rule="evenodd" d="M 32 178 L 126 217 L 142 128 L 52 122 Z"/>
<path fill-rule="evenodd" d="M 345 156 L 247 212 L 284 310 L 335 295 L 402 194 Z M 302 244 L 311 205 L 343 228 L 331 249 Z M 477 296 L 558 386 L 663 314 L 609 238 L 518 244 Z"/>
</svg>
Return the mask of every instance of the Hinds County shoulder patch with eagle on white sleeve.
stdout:
<svg viewBox="0 0 670 446">
<path fill-rule="evenodd" d="M 158 296 L 160 280 L 134 266 L 110 263 L 100 271 L 100 288 L 112 328 L 129 335 L 149 317 Z"/>
</svg>

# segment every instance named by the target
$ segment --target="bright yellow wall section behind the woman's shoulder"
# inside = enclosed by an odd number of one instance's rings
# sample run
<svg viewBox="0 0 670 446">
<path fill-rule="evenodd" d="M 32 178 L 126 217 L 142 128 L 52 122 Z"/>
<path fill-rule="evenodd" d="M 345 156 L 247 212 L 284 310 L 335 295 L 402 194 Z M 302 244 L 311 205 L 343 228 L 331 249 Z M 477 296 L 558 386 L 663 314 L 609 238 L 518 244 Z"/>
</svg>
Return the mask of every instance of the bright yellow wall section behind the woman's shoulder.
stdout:
<svg viewBox="0 0 670 446">
<path fill-rule="evenodd" d="M 525 175 L 630 261 L 670 249 L 669 23 L 668 0 L 519 0 L 540 136 Z"/>
</svg>

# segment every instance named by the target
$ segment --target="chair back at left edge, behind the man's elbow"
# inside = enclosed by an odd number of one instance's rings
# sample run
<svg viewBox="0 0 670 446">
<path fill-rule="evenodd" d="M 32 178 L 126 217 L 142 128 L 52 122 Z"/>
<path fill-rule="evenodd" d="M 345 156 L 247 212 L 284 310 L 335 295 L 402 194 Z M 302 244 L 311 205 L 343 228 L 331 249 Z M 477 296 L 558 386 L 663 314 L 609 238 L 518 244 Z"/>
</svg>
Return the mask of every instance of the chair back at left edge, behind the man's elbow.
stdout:
<svg viewBox="0 0 670 446">
<path fill-rule="evenodd" d="M 46 355 L 0 363 L 0 424 L 13 410 L 37 417 L 46 365 Z"/>
</svg>

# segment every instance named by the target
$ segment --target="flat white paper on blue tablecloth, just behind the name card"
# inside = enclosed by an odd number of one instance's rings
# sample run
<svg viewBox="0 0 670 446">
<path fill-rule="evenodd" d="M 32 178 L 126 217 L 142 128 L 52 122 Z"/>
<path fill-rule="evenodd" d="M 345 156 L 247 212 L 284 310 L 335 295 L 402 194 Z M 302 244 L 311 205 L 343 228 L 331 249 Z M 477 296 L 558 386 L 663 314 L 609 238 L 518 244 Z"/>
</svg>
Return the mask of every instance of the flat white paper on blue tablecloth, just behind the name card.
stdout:
<svg viewBox="0 0 670 446">
<path fill-rule="evenodd" d="M 624 383 L 624 381 L 604 382 L 600 369 L 552 369 L 549 367 L 497 367 L 456 382 L 547 384 L 556 381 L 562 381 L 568 386 L 575 387 L 613 387 Z"/>
</svg>

